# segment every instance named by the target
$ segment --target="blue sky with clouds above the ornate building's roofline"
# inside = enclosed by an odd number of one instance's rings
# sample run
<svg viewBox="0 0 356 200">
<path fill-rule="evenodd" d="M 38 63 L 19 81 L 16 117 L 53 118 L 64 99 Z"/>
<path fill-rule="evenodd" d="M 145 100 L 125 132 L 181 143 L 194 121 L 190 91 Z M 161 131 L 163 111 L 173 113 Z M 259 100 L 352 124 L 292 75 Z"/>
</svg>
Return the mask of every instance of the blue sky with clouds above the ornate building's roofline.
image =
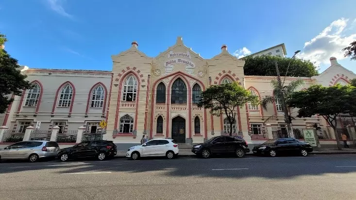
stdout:
<svg viewBox="0 0 356 200">
<path fill-rule="evenodd" d="M 285 43 L 321 71 L 331 56 L 356 71 L 339 52 L 356 39 L 354 0 L 2 0 L 0 32 L 30 68 L 111 70 L 111 55 L 132 41 L 153 57 L 180 35 L 203 58 L 222 44 L 234 54 Z"/>
</svg>

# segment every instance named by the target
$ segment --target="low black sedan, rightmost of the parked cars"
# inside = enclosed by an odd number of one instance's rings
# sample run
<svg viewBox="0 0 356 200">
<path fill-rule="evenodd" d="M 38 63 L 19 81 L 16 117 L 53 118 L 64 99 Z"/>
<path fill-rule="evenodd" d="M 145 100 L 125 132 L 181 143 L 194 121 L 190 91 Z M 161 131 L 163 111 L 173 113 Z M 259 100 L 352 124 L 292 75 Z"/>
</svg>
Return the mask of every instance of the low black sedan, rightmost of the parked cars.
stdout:
<svg viewBox="0 0 356 200">
<path fill-rule="evenodd" d="M 313 151 L 309 143 L 293 138 L 270 139 L 263 144 L 255 146 L 252 150 L 254 154 L 264 154 L 275 157 L 278 154 L 300 154 L 307 156 Z"/>
</svg>

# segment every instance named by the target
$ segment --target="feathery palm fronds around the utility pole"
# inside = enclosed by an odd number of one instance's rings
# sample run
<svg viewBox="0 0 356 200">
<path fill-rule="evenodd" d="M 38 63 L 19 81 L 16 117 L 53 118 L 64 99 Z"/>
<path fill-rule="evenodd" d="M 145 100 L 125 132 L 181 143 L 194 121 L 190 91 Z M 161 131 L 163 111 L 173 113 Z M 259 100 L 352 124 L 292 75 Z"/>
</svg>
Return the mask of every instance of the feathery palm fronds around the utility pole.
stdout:
<svg viewBox="0 0 356 200">
<path fill-rule="evenodd" d="M 290 96 L 295 90 L 301 86 L 304 85 L 304 81 L 302 79 L 297 79 L 291 81 L 288 85 L 282 86 L 282 88 L 279 87 L 278 81 L 276 79 L 273 79 L 271 81 L 271 86 L 273 88 L 273 95 L 267 95 L 264 96 L 262 101 L 261 101 L 261 106 L 262 108 L 267 110 L 268 104 L 274 103 L 275 99 L 282 99 L 282 91 L 284 92 L 284 98 L 286 102 L 290 99 Z M 288 107 L 288 105 L 287 105 Z M 283 107 L 282 107 L 283 109 Z"/>
</svg>

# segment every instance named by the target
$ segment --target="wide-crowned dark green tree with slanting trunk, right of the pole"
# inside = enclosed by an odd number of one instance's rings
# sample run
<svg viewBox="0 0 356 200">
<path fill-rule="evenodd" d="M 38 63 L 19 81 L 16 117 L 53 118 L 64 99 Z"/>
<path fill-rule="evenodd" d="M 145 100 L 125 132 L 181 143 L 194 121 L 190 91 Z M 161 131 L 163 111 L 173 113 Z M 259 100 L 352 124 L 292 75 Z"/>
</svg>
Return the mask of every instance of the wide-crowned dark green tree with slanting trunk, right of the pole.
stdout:
<svg viewBox="0 0 356 200">
<path fill-rule="evenodd" d="M 354 89 L 350 85 L 341 86 L 338 84 L 332 87 L 313 85 L 305 91 L 293 92 L 288 99 L 288 105 L 291 108 L 299 108 L 297 115 L 299 118 L 311 117 L 316 114 L 322 115 L 334 129 L 338 148 L 341 150 L 336 130 L 337 117 L 340 113 L 349 113 L 351 105 L 355 104 L 355 102 L 350 102 L 350 94 Z"/>
</svg>

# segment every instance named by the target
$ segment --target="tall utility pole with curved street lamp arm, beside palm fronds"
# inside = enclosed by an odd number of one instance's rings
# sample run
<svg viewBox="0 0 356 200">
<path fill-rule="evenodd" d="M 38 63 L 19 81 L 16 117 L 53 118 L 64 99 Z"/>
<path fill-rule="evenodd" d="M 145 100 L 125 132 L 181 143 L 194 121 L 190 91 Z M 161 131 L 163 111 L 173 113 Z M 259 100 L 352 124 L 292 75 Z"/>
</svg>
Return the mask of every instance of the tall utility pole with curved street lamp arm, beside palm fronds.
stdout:
<svg viewBox="0 0 356 200">
<path fill-rule="evenodd" d="M 292 56 L 292 58 L 288 62 L 286 76 L 283 79 L 283 84 L 282 84 L 282 81 L 281 81 L 281 76 L 279 75 L 279 69 L 278 69 L 277 60 L 274 60 L 274 65 L 276 66 L 276 71 L 277 71 L 277 82 L 278 82 L 279 88 L 281 89 L 281 100 L 282 100 L 282 107 L 283 107 L 283 111 L 284 111 L 284 120 L 287 123 L 287 130 L 288 130 L 289 138 L 294 138 L 294 134 L 293 134 L 292 126 L 290 125 L 291 122 L 289 120 L 288 108 L 287 108 L 287 105 L 286 105 L 286 99 L 284 97 L 283 85 L 284 85 L 284 82 L 285 82 L 286 77 L 287 77 L 287 73 L 288 73 L 290 62 L 295 58 L 295 55 L 297 55 L 297 53 L 299 53 L 299 52 L 300 52 L 300 50 L 294 52 L 294 55 Z"/>
</svg>

